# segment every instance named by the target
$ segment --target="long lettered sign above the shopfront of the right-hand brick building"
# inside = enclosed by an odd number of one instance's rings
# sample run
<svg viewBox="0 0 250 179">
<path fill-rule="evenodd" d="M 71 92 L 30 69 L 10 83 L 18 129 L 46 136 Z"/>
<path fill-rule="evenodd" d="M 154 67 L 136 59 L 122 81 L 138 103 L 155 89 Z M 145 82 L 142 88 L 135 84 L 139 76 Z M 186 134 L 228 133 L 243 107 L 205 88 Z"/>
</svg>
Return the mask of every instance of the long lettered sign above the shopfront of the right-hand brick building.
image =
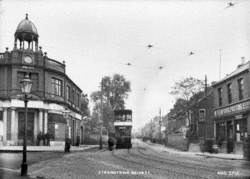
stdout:
<svg viewBox="0 0 250 179">
<path fill-rule="evenodd" d="M 229 107 L 225 107 L 222 109 L 217 109 L 214 111 L 214 116 L 219 117 L 219 116 L 224 116 L 227 114 L 232 114 L 240 111 L 244 111 L 250 109 L 250 101 L 246 101 L 243 103 L 238 103 Z"/>
</svg>

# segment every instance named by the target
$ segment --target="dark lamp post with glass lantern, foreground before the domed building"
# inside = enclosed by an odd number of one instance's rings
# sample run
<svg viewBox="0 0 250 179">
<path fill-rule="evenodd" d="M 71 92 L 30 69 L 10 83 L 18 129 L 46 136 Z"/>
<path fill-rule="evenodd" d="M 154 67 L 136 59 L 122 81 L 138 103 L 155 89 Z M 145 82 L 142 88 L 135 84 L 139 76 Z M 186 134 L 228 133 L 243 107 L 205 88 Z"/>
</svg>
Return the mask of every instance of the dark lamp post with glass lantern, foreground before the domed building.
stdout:
<svg viewBox="0 0 250 179">
<path fill-rule="evenodd" d="M 32 81 L 29 76 L 26 75 L 25 78 L 20 81 L 20 88 L 24 94 L 24 135 L 23 135 L 23 161 L 21 164 L 21 176 L 27 176 L 28 173 L 28 164 L 27 164 L 27 113 L 28 113 L 28 94 L 30 93 L 32 87 Z"/>
</svg>

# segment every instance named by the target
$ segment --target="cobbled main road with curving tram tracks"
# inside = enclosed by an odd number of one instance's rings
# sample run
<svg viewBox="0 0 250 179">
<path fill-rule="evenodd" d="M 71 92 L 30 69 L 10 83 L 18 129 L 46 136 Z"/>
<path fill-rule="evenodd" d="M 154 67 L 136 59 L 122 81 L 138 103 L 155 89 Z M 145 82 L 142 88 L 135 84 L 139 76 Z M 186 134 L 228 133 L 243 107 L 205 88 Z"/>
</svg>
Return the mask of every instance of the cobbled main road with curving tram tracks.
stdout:
<svg viewBox="0 0 250 179">
<path fill-rule="evenodd" d="M 139 140 L 132 150 L 91 149 L 29 167 L 31 177 L 44 178 L 248 178 L 250 164 L 159 152 Z"/>
</svg>

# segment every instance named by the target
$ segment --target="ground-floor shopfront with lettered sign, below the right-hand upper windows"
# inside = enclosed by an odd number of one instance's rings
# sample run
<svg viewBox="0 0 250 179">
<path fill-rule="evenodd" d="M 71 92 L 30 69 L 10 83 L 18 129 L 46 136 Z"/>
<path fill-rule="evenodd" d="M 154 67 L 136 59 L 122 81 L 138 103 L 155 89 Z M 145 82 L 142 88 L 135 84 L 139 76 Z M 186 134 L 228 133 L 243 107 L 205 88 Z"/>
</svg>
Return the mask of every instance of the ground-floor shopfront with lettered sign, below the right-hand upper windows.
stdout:
<svg viewBox="0 0 250 179">
<path fill-rule="evenodd" d="M 249 101 L 215 110 L 216 142 L 223 153 L 243 154 Z"/>
</svg>

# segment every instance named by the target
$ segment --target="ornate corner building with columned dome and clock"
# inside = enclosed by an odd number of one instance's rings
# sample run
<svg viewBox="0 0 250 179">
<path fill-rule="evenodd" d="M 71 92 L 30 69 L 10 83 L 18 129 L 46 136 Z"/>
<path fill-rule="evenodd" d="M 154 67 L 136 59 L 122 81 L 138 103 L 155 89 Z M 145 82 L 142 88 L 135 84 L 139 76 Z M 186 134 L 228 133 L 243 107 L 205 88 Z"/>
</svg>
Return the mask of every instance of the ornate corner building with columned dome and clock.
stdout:
<svg viewBox="0 0 250 179">
<path fill-rule="evenodd" d="M 65 137 L 76 144 L 82 137 L 82 90 L 68 77 L 65 63 L 51 59 L 39 47 L 36 26 L 28 14 L 14 34 L 14 48 L 0 53 L 0 145 L 22 145 L 24 99 L 20 81 L 32 81 L 28 101 L 27 143 L 49 134 L 51 145 L 64 145 Z M 38 135 L 39 134 L 39 135 Z M 79 142 L 79 141 L 78 141 Z"/>
</svg>

